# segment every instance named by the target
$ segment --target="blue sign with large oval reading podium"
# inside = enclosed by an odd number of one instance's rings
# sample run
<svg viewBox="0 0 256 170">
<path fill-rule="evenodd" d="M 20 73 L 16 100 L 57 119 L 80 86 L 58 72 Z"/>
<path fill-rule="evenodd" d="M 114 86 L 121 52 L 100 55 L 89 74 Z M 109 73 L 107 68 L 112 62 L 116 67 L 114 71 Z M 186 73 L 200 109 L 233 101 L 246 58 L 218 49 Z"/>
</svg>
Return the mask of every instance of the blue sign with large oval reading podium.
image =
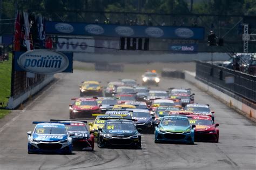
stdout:
<svg viewBox="0 0 256 170">
<path fill-rule="evenodd" d="M 26 52 L 15 51 L 15 71 L 37 74 L 73 72 L 73 53 L 38 49 Z"/>
</svg>

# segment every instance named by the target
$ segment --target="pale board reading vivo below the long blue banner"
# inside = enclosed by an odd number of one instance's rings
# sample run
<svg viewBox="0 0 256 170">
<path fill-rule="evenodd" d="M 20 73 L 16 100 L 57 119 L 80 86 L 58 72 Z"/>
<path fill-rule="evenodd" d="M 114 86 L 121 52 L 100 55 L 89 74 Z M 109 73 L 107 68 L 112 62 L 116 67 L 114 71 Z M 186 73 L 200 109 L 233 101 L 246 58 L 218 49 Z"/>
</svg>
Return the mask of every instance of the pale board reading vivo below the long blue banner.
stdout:
<svg viewBox="0 0 256 170">
<path fill-rule="evenodd" d="M 93 37 L 58 37 L 57 51 L 95 52 Z"/>
</svg>

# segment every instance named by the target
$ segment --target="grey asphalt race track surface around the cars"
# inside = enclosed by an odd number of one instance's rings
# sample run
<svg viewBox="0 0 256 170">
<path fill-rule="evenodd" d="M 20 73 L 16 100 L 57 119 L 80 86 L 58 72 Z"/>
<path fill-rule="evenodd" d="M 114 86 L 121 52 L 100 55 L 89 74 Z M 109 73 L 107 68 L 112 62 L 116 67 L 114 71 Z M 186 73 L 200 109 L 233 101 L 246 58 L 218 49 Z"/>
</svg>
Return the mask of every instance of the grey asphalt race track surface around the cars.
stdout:
<svg viewBox="0 0 256 170">
<path fill-rule="evenodd" d="M 219 123 L 219 143 L 195 145 L 155 144 L 153 134 L 142 135 L 142 149 L 107 149 L 73 152 L 72 155 L 28 154 L 32 121 L 68 119 L 72 97 L 79 95 L 83 80 L 99 80 L 103 85 L 118 78 L 140 80 L 141 73 L 78 71 L 57 74 L 56 81 L 0 120 L 0 169 L 256 169 L 255 124 L 181 79 L 161 78 L 158 88 L 190 87 L 197 103 L 210 104 Z M 154 89 L 154 87 L 152 87 Z"/>
</svg>

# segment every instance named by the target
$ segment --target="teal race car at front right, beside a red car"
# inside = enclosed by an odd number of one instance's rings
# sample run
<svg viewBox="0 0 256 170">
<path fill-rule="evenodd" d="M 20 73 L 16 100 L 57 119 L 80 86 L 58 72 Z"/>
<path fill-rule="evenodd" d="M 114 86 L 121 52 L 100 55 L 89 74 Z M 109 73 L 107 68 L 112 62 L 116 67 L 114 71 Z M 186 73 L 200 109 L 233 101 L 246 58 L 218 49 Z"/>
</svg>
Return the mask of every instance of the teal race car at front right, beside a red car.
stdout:
<svg viewBox="0 0 256 170">
<path fill-rule="evenodd" d="M 187 117 L 166 116 L 156 127 L 154 142 L 184 142 L 194 144 L 194 127 Z"/>
</svg>

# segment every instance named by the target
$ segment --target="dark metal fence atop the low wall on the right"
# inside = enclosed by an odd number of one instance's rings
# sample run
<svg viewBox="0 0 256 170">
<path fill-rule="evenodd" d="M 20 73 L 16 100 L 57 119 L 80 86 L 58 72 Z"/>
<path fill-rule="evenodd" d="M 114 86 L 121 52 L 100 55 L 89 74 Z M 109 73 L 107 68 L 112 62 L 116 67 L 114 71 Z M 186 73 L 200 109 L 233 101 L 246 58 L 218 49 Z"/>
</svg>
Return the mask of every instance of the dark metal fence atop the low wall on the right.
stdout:
<svg viewBox="0 0 256 170">
<path fill-rule="evenodd" d="M 196 61 L 196 78 L 228 95 L 256 104 L 256 77 L 210 63 Z"/>
</svg>

